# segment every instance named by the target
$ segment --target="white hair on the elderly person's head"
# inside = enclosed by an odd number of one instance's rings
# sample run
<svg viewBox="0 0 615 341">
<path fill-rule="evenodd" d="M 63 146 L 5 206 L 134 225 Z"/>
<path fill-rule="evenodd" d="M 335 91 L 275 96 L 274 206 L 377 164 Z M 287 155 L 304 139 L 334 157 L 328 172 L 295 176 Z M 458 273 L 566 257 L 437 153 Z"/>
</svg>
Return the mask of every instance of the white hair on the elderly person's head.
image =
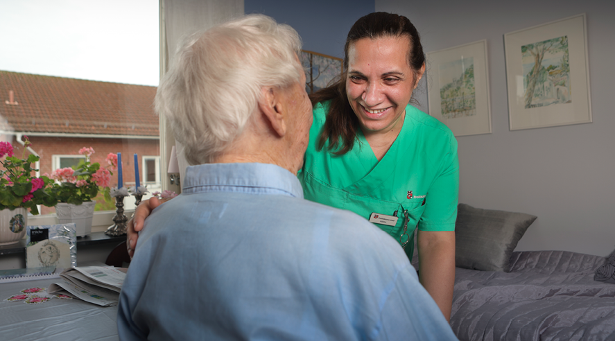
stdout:
<svg viewBox="0 0 615 341">
<path fill-rule="evenodd" d="M 247 15 L 195 33 L 177 50 L 160 80 L 155 110 L 184 145 L 189 164 L 207 164 L 241 135 L 263 87 L 300 82 L 291 26 Z"/>
</svg>

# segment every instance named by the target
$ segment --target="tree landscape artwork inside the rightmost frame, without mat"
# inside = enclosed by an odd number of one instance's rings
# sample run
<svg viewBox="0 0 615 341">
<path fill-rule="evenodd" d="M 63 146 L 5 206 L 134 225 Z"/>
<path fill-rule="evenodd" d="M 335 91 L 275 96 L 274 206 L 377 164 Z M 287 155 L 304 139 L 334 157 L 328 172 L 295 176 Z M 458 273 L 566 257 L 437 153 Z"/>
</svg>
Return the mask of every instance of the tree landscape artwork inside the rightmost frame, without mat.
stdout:
<svg viewBox="0 0 615 341">
<path fill-rule="evenodd" d="M 521 46 L 526 109 L 571 103 L 568 37 Z"/>
</svg>

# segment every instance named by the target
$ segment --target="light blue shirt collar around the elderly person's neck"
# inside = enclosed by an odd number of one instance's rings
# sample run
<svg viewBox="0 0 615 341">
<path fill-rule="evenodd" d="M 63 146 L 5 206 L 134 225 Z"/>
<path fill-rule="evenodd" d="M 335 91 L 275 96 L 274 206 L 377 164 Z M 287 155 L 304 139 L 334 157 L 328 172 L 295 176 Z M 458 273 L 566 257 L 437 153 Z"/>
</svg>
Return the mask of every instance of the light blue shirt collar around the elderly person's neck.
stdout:
<svg viewBox="0 0 615 341">
<path fill-rule="evenodd" d="M 293 173 L 275 164 L 200 164 L 186 168 L 184 191 L 196 186 L 243 186 L 279 189 L 303 198 L 301 183 Z"/>
</svg>

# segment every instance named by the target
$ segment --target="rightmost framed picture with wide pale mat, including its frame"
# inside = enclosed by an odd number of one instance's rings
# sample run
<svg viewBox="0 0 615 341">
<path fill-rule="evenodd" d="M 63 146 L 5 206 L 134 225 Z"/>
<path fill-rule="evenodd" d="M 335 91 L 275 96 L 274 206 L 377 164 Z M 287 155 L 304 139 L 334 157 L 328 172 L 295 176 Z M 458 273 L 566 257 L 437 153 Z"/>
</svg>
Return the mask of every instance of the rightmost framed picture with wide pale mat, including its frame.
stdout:
<svg viewBox="0 0 615 341">
<path fill-rule="evenodd" d="M 591 122 L 585 14 L 504 35 L 510 130 Z"/>
</svg>

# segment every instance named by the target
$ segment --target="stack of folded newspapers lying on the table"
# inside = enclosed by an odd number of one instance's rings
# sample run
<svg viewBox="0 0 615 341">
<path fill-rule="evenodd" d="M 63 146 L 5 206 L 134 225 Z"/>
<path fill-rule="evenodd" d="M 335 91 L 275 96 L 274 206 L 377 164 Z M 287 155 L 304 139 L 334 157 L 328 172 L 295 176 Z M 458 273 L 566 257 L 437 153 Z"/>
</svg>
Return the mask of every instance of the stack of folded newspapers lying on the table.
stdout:
<svg viewBox="0 0 615 341">
<path fill-rule="evenodd" d="M 126 277 L 124 268 L 74 267 L 60 274 L 61 281 L 49 286 L 50 294 L 64 294 L 99 306 L 114 306 Z"/>
</svg>

